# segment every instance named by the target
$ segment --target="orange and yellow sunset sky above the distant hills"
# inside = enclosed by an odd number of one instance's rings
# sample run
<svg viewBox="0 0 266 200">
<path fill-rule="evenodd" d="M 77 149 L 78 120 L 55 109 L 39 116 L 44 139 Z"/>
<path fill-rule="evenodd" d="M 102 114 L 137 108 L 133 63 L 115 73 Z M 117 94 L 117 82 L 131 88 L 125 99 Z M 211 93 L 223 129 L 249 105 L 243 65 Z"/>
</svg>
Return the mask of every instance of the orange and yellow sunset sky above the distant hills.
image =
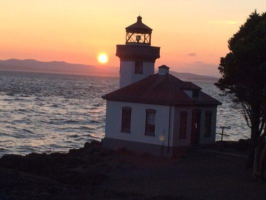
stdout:
<svg viewBox="0 0 266 200">
<path fill-rule="evenodd" d="M 116 44 L 125 27 L 142 21 L 161 47 L 156 66 L 219 76 L 227 40 L 266 0 L 0 0 L 0 59 L 63 60 L 119 66 Z"/>
</svg>

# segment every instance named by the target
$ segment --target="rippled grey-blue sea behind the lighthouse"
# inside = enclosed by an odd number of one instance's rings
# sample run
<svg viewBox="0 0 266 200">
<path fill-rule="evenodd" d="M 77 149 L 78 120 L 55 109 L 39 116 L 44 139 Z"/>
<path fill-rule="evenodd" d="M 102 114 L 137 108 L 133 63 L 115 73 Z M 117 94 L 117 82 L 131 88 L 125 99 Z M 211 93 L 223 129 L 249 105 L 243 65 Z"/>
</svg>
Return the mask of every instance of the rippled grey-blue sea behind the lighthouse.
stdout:
<svg viewBox="0 0 266 200">
<path fill-rule="evenodd" d="M 217 133 L 224 140 L 249 138 L 250 128 L 228 96 L 210 81 L 192 81 L 217 98 Z M 67 152 L 101 140 L 103 94 L 118 88 L 118 77 L 0 70 L 0 156 L 6 153 Z M 217 134 L 217 140 L 221 135 Z"/>
</svg>

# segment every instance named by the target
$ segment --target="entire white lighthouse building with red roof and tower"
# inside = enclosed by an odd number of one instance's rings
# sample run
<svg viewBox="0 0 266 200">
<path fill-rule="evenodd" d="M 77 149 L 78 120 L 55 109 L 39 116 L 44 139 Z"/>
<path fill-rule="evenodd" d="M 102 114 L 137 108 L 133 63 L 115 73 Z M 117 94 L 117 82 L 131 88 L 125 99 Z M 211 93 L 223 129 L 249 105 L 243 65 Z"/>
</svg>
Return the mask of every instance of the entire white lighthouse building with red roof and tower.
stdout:
<svg viewBox="0 0 266 200">
<path fill-rule="evenodd" d="M 120 58 L 120 88 L 106 99 L 106 148 L 172 156 L 180 148 L 215 142 L 215 98 L 192 82 L 154 63 L 160 47 L 151 46 L 152 29 L 137 22 L 126 27 L 126 44 L 116 46 Z"/>
</svg>

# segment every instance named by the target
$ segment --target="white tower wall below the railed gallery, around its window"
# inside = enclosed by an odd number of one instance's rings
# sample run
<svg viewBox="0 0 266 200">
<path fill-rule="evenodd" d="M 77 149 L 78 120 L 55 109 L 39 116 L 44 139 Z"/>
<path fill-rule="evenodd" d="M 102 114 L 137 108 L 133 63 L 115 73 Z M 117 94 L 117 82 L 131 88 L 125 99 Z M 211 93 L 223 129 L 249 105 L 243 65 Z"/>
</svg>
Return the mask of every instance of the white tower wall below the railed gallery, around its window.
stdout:
<svg viewBox="0 0 266 200">
<path fill-rule="evenodd" d="M 120 88 L 154 74 L 154 62 L 143 62 L 143 73 L 135 73 L 135 61 L 120 61 Z"/>
</svg>

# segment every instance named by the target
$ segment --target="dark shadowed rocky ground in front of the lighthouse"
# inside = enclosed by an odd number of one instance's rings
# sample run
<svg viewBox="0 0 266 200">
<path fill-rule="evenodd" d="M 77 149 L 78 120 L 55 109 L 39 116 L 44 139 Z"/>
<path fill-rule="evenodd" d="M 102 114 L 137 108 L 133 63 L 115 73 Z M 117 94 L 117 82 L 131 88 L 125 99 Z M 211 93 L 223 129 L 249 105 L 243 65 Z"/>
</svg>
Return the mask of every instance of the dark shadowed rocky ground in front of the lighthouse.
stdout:
<svg viewBox="0 0 266 200">
<path fill-rule="evenodd" d="M 243 142 L 193 148 L 175 158 L 85 143 L 68 153 L 0 158 L 0 199 L 266 199 Z"/>
</svg>

